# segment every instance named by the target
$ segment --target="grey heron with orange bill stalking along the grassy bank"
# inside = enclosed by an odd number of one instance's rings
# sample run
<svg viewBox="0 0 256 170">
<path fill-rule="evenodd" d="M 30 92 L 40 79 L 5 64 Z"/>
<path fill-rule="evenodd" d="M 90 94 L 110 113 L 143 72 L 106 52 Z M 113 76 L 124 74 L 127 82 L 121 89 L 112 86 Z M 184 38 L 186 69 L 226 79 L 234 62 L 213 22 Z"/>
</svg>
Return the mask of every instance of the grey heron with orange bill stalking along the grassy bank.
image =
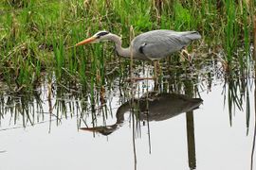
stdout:
<svg viewBox="0 0 256 170">
<path fill-rule="evenodd" d="M 119 56 L 142 60 L 159 60 L 188 46 L 193 40 L 201 39 L 196 31 L 177 32 L 174 30 L 158 29 L 138 35 L 127 48 L 121 47 L 121 38 L 108 31 L 100 31 L 91 38 L 76 44 L 110 40 L 115 42 Z"/>
</svg>

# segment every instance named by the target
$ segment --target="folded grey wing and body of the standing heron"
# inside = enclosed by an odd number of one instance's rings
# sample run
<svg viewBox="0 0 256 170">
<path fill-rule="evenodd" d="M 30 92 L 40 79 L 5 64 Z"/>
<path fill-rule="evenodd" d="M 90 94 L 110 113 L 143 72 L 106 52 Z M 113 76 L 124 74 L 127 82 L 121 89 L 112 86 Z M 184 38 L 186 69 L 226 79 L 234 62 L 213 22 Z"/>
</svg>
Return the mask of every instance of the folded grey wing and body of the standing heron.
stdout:
<svg viewBox="0 0 256 170">
<path fill-rule="evenodd" d="M 149 59 L 162 59 L 187 46 L 193 40 L 193 33 L 194 31 L 158 31 L 142 34 L 137 37 L 134 46 L 137 52 Z"/>
</svg>

